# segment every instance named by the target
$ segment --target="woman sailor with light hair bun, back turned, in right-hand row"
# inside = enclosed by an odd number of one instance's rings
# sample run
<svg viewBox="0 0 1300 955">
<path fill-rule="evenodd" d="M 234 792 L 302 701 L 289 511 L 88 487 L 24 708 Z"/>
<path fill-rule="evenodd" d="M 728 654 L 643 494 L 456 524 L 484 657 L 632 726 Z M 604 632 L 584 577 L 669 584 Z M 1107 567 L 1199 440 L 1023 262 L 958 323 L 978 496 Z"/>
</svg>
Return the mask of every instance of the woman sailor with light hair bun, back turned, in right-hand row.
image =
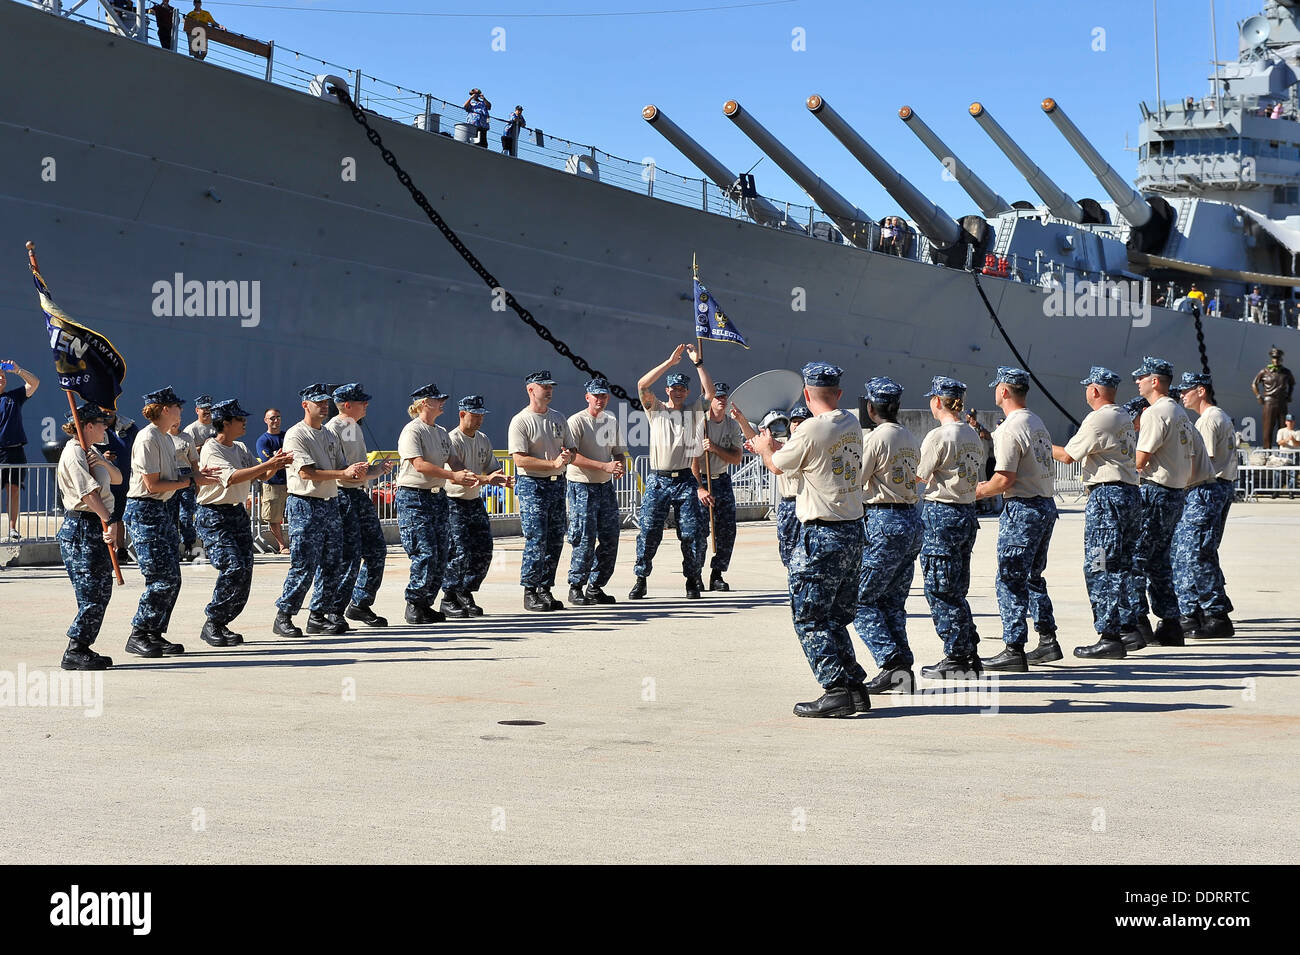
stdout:
<svg viewBox="0 0 1300 955">
<path fill-rule="evenodd" d="M 916 464 L 916 477 L 927 485 L 920 569 L 926 577 L 930 616 L 944 642 L 944 659 L 922 667 L 920 676 L 968 678 L 984 668 L 975 652 L 979 633 L 966 599 L 971 586 L 971 551 L 979 531 L 975 487 L 984 472 L 984 444 L 962 421 L 965 383 L 936 376 L 924 396 L 930 399 L 930 413 L 939 427 L 922 439 Z"/>
</svg>

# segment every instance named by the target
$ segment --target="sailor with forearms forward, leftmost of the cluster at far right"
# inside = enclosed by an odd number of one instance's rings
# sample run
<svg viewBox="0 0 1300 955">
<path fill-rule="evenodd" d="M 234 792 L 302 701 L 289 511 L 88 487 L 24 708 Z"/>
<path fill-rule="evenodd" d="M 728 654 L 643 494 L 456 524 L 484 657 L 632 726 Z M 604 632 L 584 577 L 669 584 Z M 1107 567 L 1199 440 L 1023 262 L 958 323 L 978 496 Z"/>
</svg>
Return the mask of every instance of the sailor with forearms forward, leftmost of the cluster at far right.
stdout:
<svg viewBox="0 0 1300 955">
<path fill-rule="evenodd" d="M 1132 414 L 1115 404 L 1121 378 L 1109 368 L 1093 365 L 1080 385 L 1092 409 L 1070 440 L 1052 447 L 1062 464 L 1079 464 L 1079 478 L 1088 492 L 1083 512 L 1083 581 L 1092 604 L 1097 642 L 1075 647 L 1082 659 L 1121 660 L 1145 644 L 1124 618 L 1124 578 L 1132 567 L 1141 516 L 1138 492 L 1138 435 Z M 1039 638 L 1027 655 L 1030 663 L 1054 663 L 1062 657 L 1056 634 Z"/>
</svg>

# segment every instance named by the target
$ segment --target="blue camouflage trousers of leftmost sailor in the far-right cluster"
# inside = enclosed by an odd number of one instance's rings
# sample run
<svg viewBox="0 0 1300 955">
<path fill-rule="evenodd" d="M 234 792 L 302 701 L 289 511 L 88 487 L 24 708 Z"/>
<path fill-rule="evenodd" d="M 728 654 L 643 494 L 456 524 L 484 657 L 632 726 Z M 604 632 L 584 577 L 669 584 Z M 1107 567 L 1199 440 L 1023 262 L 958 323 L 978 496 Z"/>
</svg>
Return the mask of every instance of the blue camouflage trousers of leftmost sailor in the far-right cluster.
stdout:
<svg viewBox="0 0 1300 955">
<path fill-rule="evenodd" d="M 1083 582 L 1097 634 L 1118 637 L 1136 626 L 1124 592 L 1141 529 L 1138 485 L 1093 485 L 1083 511 Z"/>
</svg>

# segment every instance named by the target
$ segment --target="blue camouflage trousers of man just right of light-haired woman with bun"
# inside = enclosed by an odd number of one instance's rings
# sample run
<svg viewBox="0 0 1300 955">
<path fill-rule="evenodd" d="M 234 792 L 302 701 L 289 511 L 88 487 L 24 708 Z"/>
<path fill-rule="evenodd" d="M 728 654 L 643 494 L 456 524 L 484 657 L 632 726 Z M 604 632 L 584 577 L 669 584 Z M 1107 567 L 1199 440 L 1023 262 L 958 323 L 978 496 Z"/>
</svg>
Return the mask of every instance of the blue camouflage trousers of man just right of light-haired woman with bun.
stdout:
<svg viewBox="0 0 1300 955">
<path fill-rule="evenodd" d="M 1040 634 L 1056 633 L 1052 598 L 1043 572 L 1057 511 L 1052 498 L 1008 498 L 997 522 L 997 609 L 1002 617 L 1002 641 L 1023 646 L 1028 639 L 1026 617 L 1034 617 Z"/>
</svg>

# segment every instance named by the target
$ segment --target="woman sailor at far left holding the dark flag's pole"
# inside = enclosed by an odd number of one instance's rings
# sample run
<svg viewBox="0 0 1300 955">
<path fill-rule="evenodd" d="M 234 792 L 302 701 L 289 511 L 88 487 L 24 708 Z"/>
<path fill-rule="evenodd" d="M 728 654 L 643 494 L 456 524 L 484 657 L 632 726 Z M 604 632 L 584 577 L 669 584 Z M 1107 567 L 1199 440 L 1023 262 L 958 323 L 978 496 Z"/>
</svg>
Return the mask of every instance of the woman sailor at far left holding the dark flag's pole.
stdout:
<svg viewBox="0 0 1300 955">
<path fill-rule="evenodd" d="M 77 426 L 69 411 L 64 425 L 69 440 L 56 470 L 64 504 L 58 556 L 64 559 L 77 595 L 77 618 L 68 628 L 68 648 L 58 665 L 65 670 L 103 670 L 112 667 L 113 660 L 96 654 L 94 643 L 113 596 L 113 563 L 108 556 L 113 544 L 110 489 L 122 482 L 122 473 L 95 451 L 95 444 L 101 443 L 108 431 L 104 409 L 86 401 L 78 405 L 77 418 L 90 453 L 77 443 Z"/>
</svg>

